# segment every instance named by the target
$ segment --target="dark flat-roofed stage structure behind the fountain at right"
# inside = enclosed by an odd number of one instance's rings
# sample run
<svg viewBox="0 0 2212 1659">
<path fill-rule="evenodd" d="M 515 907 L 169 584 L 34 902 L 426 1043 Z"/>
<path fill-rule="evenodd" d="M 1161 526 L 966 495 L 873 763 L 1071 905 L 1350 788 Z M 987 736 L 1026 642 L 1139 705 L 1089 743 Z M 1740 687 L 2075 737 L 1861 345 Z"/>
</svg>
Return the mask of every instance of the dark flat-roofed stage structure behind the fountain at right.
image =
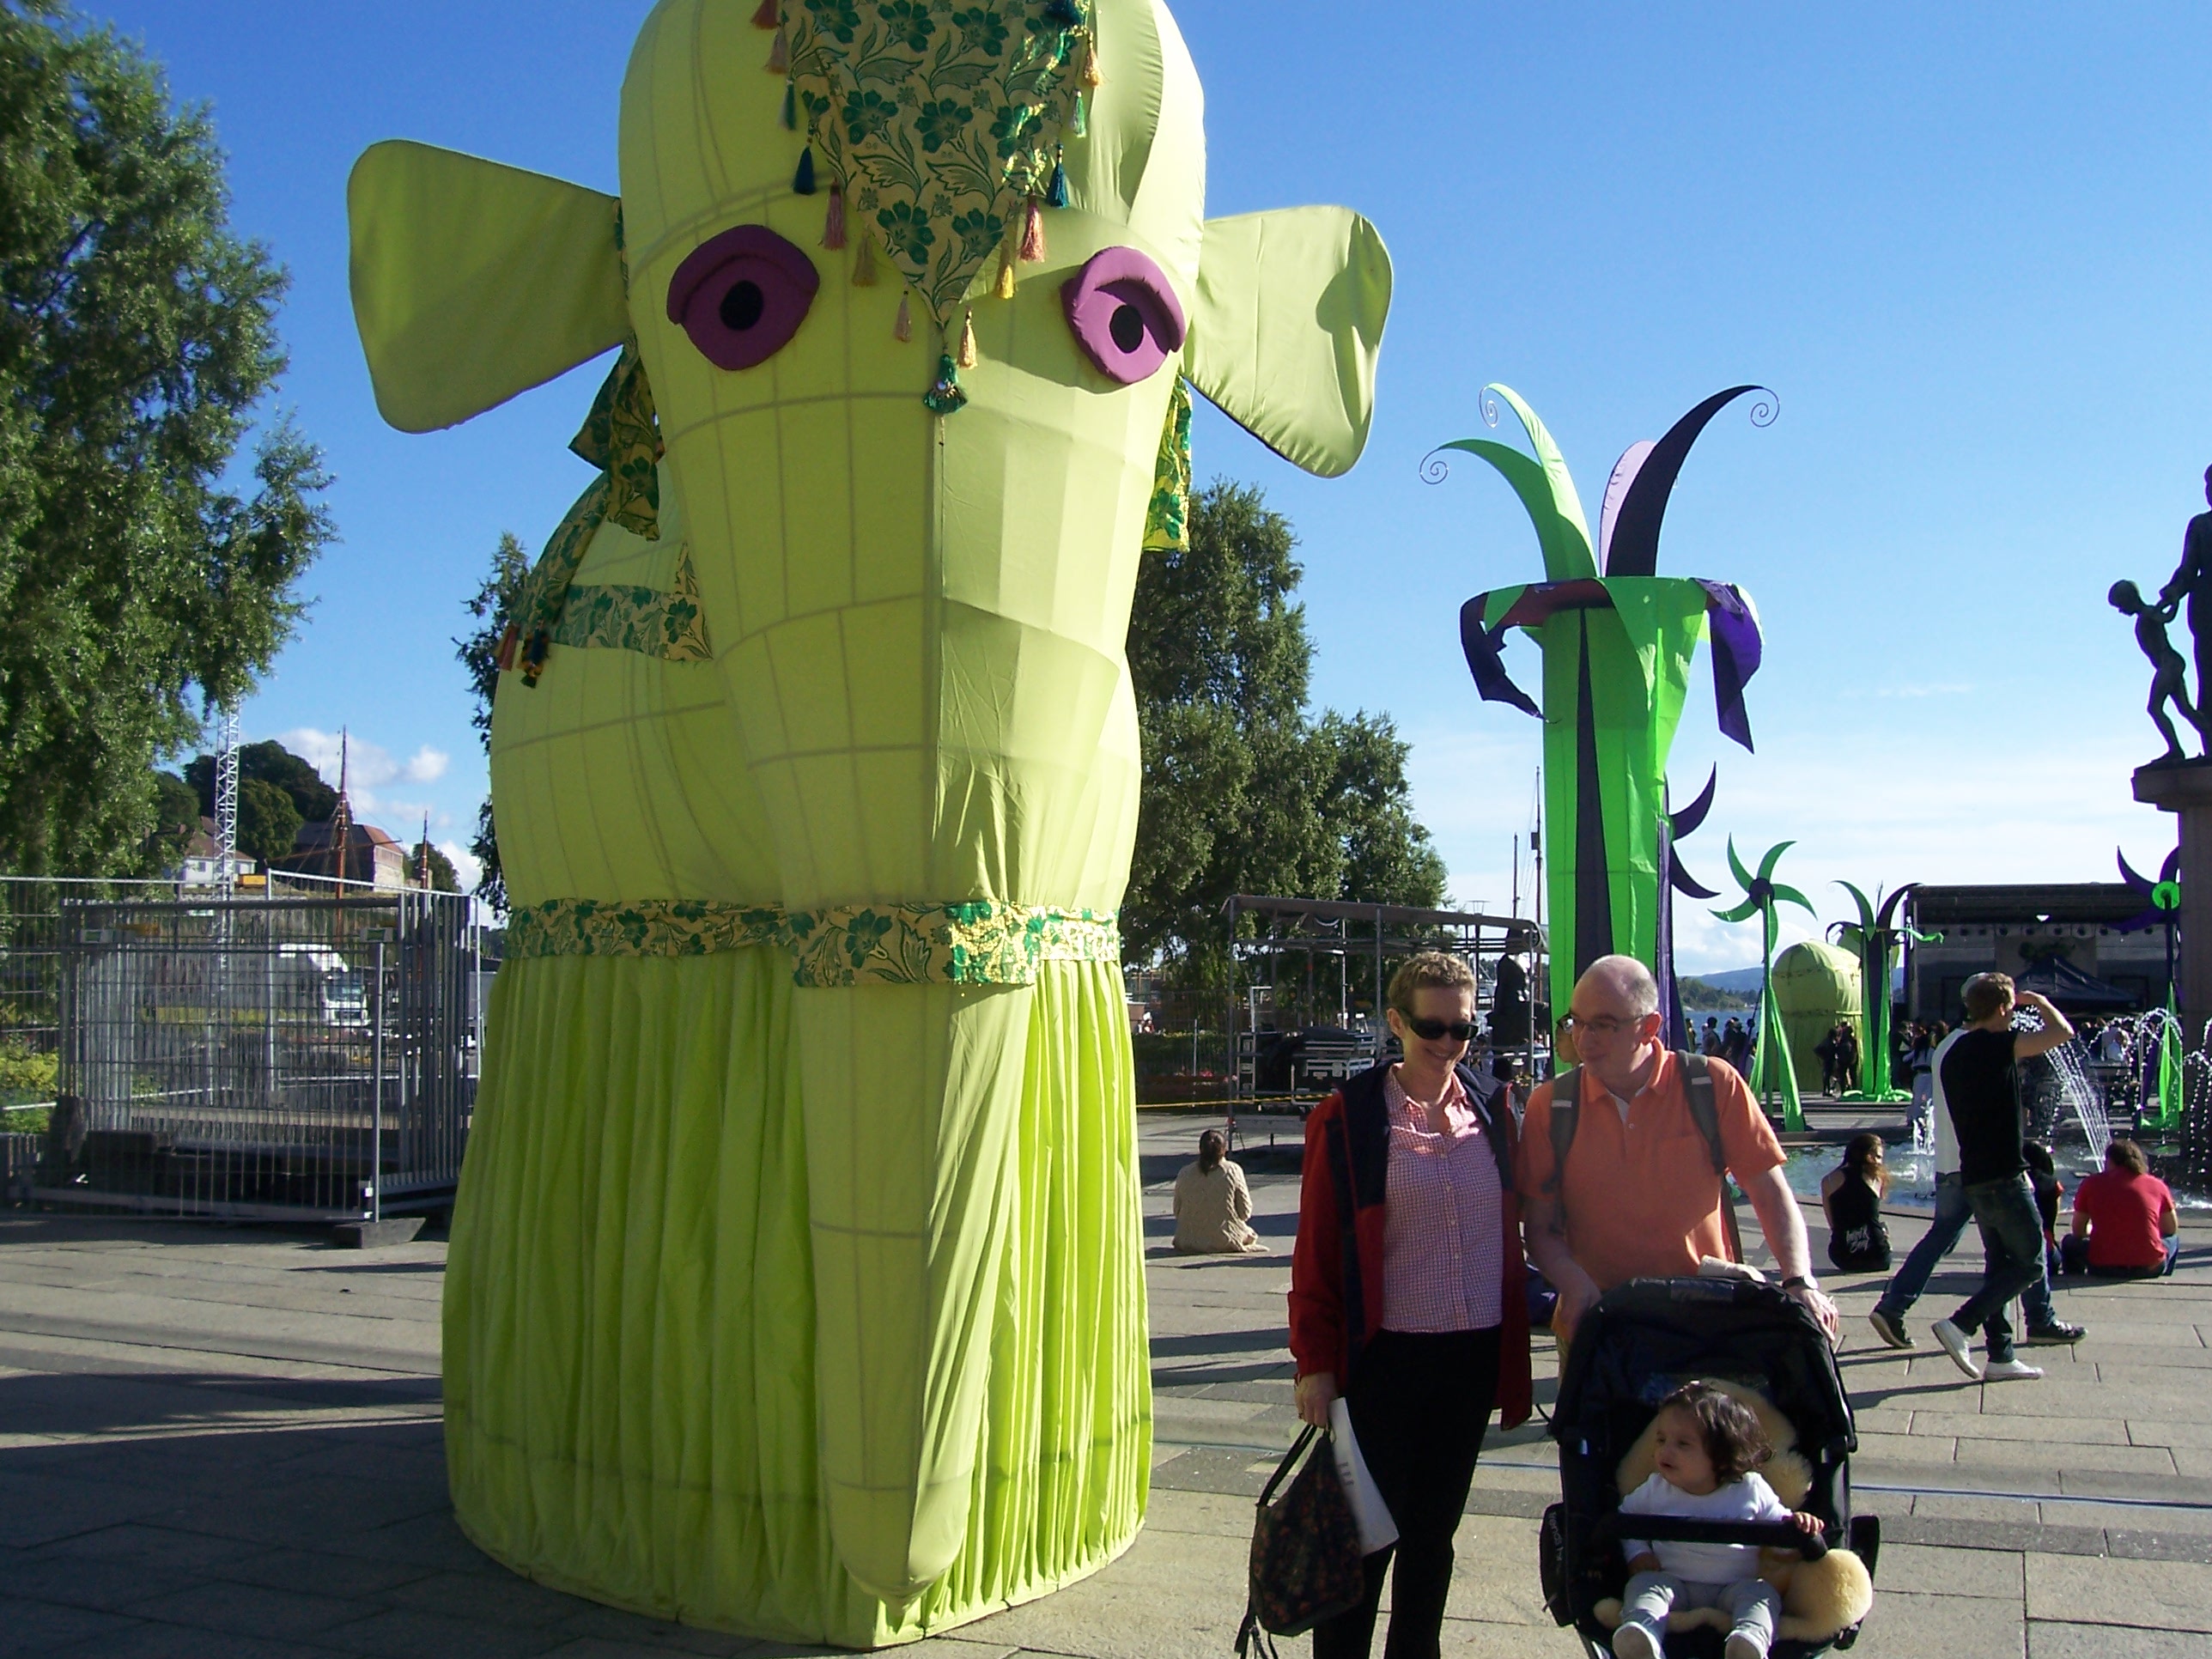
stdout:
<svg viewBox="0 0 2212 1659">
<path fill-rule="evenodd" d="M 2053 956 L 2077 975 L 2124 991 L 2137 1009 L 2166 1002 L 2166 929 L 2119 931 L 2119 922 L 2143 914 L 2143 896 L 2126 883 L 1920 887 L 1909 905 L 1913 927 L 1942 933 L 1942 945 L 1911 947 L 1905 995 L 1913 1020 L 1958 1024 L 1960 993 L 1975 973 L 2017 980 Z"/>
</svg>

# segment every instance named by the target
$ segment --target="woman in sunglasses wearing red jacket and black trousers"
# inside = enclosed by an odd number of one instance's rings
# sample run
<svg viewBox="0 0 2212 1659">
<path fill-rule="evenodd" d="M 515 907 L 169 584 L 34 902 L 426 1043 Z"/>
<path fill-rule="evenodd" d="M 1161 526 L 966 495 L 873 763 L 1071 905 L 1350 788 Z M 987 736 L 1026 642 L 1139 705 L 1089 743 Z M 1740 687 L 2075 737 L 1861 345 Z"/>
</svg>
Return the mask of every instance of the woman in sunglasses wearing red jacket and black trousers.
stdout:
<svg viewBox="0 0 2212 1659">
<path fill-rule="evenodd" d="M 1528 1418 L 1526 1270 L 1506 1091 L 1464 1066 L 1475 975 L 1422 951 L 1391 978 L 1405 1060 L 1347 1082 L 1305 1119 L 1290 1352 L 1298 1416 L 1338 1391 L 1398 1524 L 1367 1557 L 1367 1597 L 1314 1628 L 1314 1659 L 1365 1659 L 1396 1555 L 1387 1659 L 1433 1659 L 1451 1537 L 1493 1405 Z M 1347 1214 L 1349 1210 L 1349 1214 Z"/>
</svg>

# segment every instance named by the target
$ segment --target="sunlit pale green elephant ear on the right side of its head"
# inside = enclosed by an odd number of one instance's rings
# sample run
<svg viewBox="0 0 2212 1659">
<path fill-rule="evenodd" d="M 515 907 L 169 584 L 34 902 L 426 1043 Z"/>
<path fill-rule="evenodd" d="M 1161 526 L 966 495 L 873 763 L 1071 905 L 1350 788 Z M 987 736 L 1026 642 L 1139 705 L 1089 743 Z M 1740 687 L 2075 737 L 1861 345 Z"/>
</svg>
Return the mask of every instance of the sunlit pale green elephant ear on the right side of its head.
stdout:
<svg viewBox="0 0 2212 1659">
<path fill-rule="evenodd" d="M 1283 460 L 1336 478 L 1367 447 L 1389 250 L 1349 208 L 1206 221 L 1183 372 Z"/>
</svg>

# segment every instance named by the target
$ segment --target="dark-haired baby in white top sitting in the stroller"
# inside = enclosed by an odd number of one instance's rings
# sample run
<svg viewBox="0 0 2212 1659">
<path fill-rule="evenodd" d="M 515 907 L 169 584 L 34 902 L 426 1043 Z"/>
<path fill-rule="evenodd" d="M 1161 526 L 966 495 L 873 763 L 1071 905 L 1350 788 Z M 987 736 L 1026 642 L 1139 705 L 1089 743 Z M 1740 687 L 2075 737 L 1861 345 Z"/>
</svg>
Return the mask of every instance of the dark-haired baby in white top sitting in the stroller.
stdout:
<svg viewBox="0 0 2212 1659">
<path fill-rule="evenodd" d="M 1659 1402 L 1652 1478 L 1621 1498 L 1624 1515 L 1701 1522 L 1792 1522 L 1818 1533 L 1820 1517 L 1792 1511 L 1759 1473 L 1772 1447 L 1759 1418 L 1710 1383 L 1683 1383 Z M 1619 1659 L 1663 1659 L 1666 1615 L 1721 1608 L 1730 1619 L 1725 1659 L 1765 1659 L 1781 1593 L 1759 1577 L 1756 1544 L 1621 1540 L 1628 1588 L 1613 1632 Z"/>
</svg>

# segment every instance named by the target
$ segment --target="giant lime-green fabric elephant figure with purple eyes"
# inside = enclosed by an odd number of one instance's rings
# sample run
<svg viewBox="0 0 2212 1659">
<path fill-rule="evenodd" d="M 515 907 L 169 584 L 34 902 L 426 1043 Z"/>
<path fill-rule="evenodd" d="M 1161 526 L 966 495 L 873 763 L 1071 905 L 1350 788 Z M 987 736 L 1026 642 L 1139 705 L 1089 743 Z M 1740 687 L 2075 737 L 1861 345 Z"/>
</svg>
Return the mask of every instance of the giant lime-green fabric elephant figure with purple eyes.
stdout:
<svg viewBox="0 0 2212 1659">
<path fill-rule="evenodd" d="M 661 0 L 619 148 L 619 201 L 352 179 L 396 427 L 619 349 L 493 714 L 453 1506 L 566 1590 L 905 1641 L 1144 1515 L 1137 562 L 1183 380 L 1354 462 L 1389 259 L 1203 217 L 1157 0 Z"/>
</svg>

